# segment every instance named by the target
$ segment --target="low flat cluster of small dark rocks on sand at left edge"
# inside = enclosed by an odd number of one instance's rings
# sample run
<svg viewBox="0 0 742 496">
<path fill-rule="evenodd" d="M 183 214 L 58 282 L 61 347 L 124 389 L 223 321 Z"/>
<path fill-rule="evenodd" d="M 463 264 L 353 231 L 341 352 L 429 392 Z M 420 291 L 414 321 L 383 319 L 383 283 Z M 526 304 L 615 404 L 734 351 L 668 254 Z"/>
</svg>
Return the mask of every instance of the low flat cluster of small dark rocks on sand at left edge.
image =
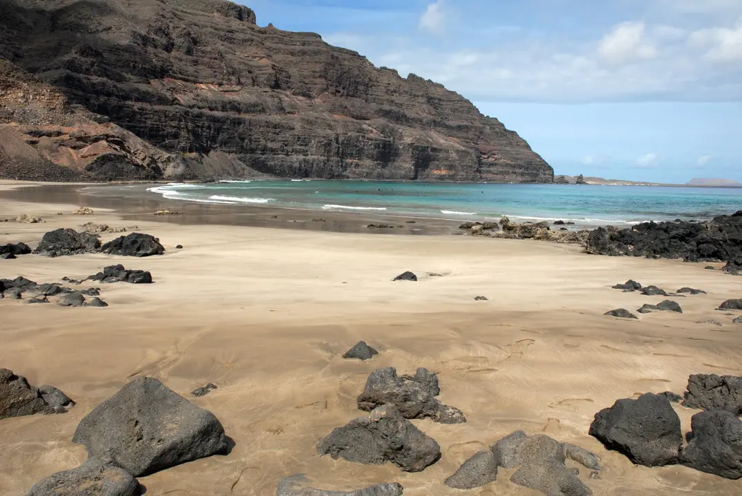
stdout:
<svg viewBox="0 0 742 496">
<path fill-rule="evenodd" d="M 13 280 L 0 279 L 0 298 L 23 300 L 26 303 L 56 302 L 57 305 L 68 307 L 108 306 L 108 303 L 98 297 L 99 294 L 99 288 L 76 291 L 56 282 L 38 284 L 22 276 Z"/>
</svg>

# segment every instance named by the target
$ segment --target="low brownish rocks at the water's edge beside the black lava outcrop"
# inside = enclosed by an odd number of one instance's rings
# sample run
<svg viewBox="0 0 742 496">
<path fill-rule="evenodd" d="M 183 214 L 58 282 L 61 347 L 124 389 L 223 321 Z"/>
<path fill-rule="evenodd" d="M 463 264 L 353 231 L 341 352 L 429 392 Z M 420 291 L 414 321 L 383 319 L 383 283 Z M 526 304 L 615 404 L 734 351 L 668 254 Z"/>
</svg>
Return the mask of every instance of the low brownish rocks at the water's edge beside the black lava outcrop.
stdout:
<svg viewBox="0 0 742 496">
<path fill-rule="evenodd" d="M 574 224 L 574 222 L 557 221 L 555 225 Z M 502 231 L 499 230 L 502 225 Z M 505 239 L 539 239 L 559 243 L 571 243 L 584 245 L 587 241 L 589 231 L 569 231 L 560 228 L 554 231 L 548 222 L 510 222 L 507 216 L 503 216 L 500 222 L 464 222 L 459 229 L 470 231 L 473 236 L 496 237 Z"/>
</svg>

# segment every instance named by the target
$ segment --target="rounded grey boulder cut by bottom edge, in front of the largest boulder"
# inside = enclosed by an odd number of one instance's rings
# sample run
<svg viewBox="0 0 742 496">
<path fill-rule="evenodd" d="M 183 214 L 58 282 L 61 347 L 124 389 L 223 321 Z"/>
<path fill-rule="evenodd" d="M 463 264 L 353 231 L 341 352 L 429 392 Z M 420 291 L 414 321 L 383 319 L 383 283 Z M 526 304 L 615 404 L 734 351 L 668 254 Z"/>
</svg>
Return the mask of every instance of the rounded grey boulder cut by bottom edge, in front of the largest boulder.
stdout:
<svg viewBox="0 0 742 496">
<path fill-rule="evenodd" d="M 26 496 L 139 496 L 141 486 L 111 458 L 90 458 L 81 466 L 51 474 Z"/>
</svg>

